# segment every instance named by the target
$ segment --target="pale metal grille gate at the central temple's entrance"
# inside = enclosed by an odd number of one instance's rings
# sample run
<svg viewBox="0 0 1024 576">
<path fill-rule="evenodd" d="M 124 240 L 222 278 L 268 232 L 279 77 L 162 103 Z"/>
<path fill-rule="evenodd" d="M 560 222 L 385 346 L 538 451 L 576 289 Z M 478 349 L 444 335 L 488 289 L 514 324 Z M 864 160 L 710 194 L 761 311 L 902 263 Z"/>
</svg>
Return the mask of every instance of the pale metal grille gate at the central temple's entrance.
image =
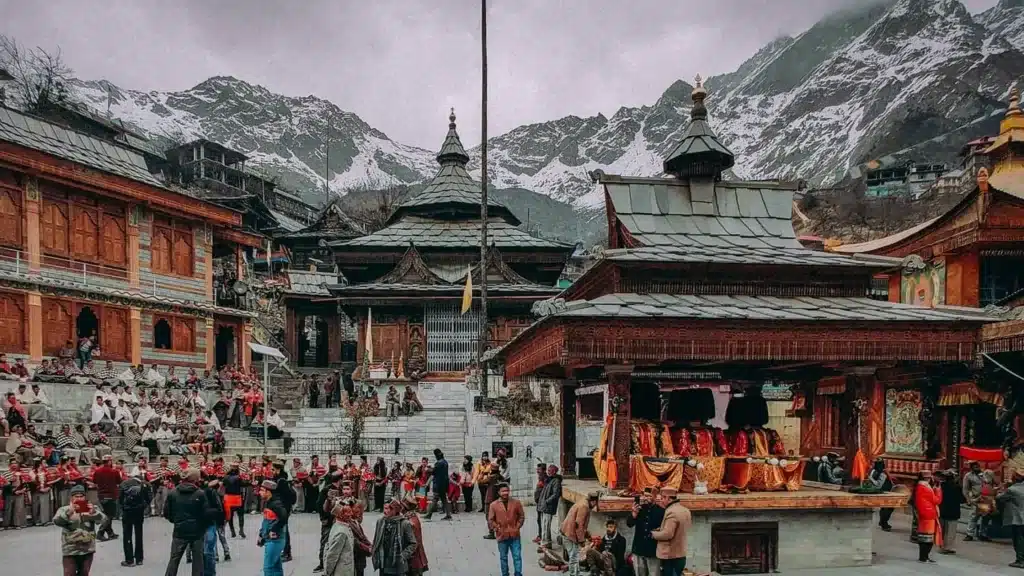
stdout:
<svg viewBox="0 0 1024 576">
<path fill-rule="evenodd" d="M 480 315 L 460 314 L 459 303 L 430 303 L 424 310 L 427 327 L 427 370 L 459 372 L 476 358 Z"/>
</svg>

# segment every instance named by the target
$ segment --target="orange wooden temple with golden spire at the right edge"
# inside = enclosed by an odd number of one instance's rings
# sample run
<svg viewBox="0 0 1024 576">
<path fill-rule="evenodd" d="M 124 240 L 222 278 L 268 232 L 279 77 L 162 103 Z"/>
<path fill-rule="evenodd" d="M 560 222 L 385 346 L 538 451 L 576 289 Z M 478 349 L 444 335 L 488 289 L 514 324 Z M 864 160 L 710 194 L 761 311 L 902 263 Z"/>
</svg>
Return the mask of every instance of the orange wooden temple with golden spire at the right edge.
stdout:
<svg viewBox="0 0 1024 576">
<path fill-rule="evenodd" d="M 1016 456 L 1024 407 L 1014 406 L 1014 398 L 1024 394 L 1013 394 L 1022 384 L 1014 374 L 1024 374 L 1024 322 L 1018 320 L 1024 304 L 1024 114 L 1017 88 L 1011 90 L 999 134 L 976 141 L 985 143 L 991 167 L 976 166 L 976 186 L 954 207 L 892 236 L 830 250 L 901 258 L 903 266 L 886 276 L 890 301 L 983 307 L 1002 318 L 980 331 L 983 370 L 948 374 L 938 383 L 934 429 L 923 424 L 934 445 L 907 451 L 929 467 L 964 468 L 975 459 L 1000 471 L 1007 453 L 1024 463 Z M 921 376 L 897 370 L 893 377 Z"/>
</svg>

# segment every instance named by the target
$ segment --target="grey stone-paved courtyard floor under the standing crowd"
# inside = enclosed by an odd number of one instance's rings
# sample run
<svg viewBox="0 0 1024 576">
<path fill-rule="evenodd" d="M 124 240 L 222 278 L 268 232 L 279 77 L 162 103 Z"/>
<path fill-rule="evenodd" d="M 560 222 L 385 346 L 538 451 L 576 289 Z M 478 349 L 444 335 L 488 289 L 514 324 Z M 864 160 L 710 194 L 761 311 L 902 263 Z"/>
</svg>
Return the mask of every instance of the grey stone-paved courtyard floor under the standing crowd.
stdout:
<svg viewBox="0 0 1024 576">
<path fill-rule="evenodd" d="M 527 518 L 532 520 L 532 508 L 527 508 Z M 261 573 L 261 550 L 256 547 L 254 534 L 258 517 L 249 516 L 247 526 L 252 525 L 247 540 L 230 540 L 233 561 L 218 565 L 218 574 L 258 576 Z M 370 515 L 366 526 L 372 536 L 378 515 Z M 898 518 L 898 517 L 897 517 Z M 493 541 L 480 538 L 483 527 L 482 515 L 462 515 L 453 523 L 437 520 L 424 523 L 427 553 L 430 558 L 430 574 L 444 576 L 492 576 L 500 574 L 496 546 Z M 534 525 L 527 522 L 526 532 L 534 536 Z M 164 573 L 168 557 L 168 540 L 171 526 L 161 519 L 150 519 L 145 524 L 146 560 L 139 568 L 122 568 L 121 541 L 99 544 L 93 576 L 110 574 L 132 574 L 135 576 L 159 576 Z M 784 530 L 784 527 L 782 528 Z M 120 533 L 120 523 L 117 524 Z M 299 515 L 292 526 L 295 536 L 293 550 L 295 562 L 286 564 L 289 575 L 311 575 L 316 565 L 319 527 L 315 517 Z M 20 531 L 0 532 L 0 573 L 16 576 L 52 576 L 59 574 L 59 531 L 56 528 L 29 528 Z M 1024 571 L 1007 567 L 1012 560 L 1012 548 L 1006 544 L 962 543 L 956 557 L 936 554 L 937 564 L 922 566 L 915 562 L 916 548 L 906 541 L 906 531 L 897 523 L 891 534 L 876 533 L 877 563 L 867 569 L 838 569 L 811 572 L 784 571 L 799 576 L 959 576 L 964 574 L 1024 574 Z M 530 543 L 524 546 L 524 574 L 541 576 L 549 574 L 537 566 L 537 553 Z M 814 553 L 808 550 L 808 553 Z M 784 568 L 784 567 L 783 567 Z M 182 562 L 179 574 L 188 574 L 187 565 Z M 368 571 L 368 575 L 370 571 Z"/>
</svg>

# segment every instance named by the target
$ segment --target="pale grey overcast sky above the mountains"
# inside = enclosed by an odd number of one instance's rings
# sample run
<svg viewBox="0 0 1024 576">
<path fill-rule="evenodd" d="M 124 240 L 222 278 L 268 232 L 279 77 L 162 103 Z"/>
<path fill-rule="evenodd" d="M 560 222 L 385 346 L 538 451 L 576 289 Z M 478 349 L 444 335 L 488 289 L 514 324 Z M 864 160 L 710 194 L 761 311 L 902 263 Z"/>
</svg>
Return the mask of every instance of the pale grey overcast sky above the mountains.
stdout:
<svg viewBox="0 0 1024 576">
<path fill-rule="evenodd" d="M 652 104 L 865 1 L 488 0 L 489 135 Z M 430 150 L 454 106 L 479 141 L 479 0 L 0 0 L 0 34 L 59 46 L 80 78 L 181 90 L 234 76 Z"/>
</svg>

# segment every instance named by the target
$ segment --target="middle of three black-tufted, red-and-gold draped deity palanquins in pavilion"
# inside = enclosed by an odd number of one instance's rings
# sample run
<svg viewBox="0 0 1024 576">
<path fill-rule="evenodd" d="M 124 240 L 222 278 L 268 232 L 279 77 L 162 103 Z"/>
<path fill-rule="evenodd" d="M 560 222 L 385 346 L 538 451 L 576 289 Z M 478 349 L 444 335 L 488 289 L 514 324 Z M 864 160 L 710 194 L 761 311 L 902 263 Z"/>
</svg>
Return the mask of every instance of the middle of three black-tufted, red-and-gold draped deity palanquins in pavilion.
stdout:
<svg viewBox="0 0 1024 576">
<path fill-rule="evenodd" d="M 729 445 L 722 428 L 708 423 L 715 417 L 715 393 L 711 388 L 673 390 L 666 416 L 673 426 L 673 449 L 680 457 L 728 453 Z"/>
</svg>

